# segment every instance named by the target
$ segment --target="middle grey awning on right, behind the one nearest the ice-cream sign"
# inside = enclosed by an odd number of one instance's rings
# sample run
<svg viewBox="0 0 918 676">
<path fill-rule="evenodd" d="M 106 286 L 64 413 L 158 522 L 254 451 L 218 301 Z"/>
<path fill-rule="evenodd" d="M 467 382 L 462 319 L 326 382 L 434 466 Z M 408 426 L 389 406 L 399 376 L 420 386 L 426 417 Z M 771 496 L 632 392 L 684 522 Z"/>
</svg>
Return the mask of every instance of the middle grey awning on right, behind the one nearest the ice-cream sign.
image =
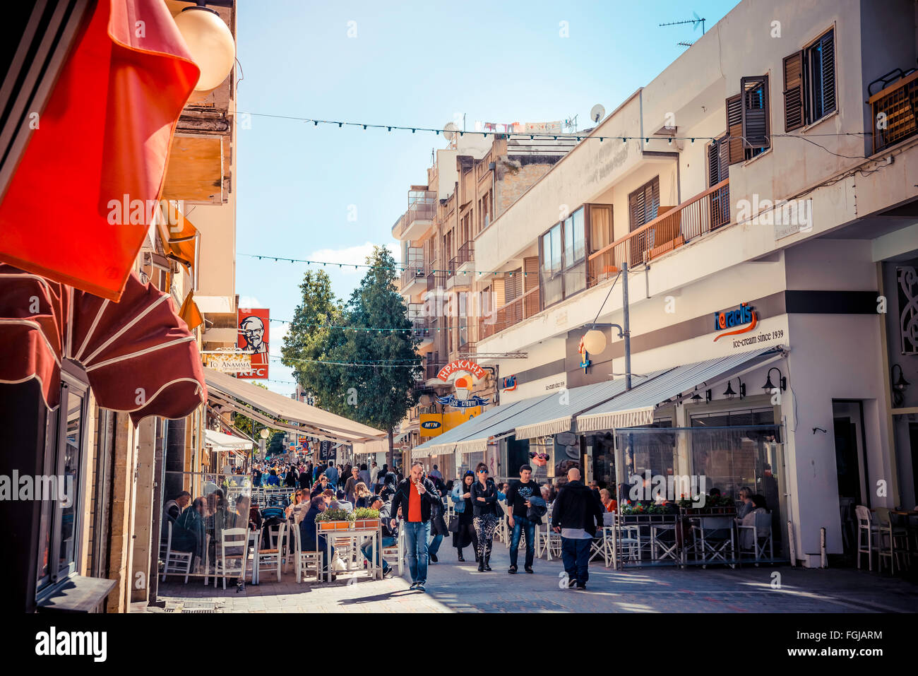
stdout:
<svg viewBox="0 0 918 676">
<path fill-rule="evenodd" d="M 666 371 L 657 371 L 650 375 L 633 375 L 632 387 L 640 387 L 641 383 L 657 377 Z M 556 393 L 539 402 L 538 406 L 513 417 L 512 427 L 516 430 L 517 439 L 532 439 L 536 436 L 547 434 L 560 434 L 569 432 L 571 421 L 580 411 L 591 409 L 594 406 L 618 397 L 625 391 L 625 379 L 606 380 L 592 385 L 568 389 L 565 396 Z"/>
</svg>

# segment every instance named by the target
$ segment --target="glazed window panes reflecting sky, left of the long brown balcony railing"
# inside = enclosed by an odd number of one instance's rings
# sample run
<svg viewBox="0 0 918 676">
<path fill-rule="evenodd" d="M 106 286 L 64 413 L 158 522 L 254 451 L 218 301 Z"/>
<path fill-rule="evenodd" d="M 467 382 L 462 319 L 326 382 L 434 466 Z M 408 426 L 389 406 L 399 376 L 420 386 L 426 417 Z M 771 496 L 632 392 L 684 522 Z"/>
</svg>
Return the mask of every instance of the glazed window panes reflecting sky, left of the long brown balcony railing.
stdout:
<svg viewBox="0 0 918 676">
<path fill-rule="evenodd" d="M 584 207 L 578 208 L 543 234 L 540 255 L 543 307 L 554 305 L 587 287 L 587 227 Z"/>
</svg>

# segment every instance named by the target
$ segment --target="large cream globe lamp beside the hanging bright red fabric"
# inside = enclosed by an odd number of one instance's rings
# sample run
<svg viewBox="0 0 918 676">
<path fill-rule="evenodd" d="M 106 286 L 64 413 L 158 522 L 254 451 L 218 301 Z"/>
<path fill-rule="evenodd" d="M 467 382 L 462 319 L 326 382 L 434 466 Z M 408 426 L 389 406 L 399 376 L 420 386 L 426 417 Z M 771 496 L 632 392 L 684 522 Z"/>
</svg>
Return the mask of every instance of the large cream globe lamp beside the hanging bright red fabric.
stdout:
<svg viewBox="0 0 918 676">
<path fill-rule="evenodd" d="M 185 39 L 191 58 L 201 69 L 195 85 L 196 92 L 209 92 L 227 79 L 236 62 L 236 42 L 229 27 L 216 10 L 205 6 L 205 0 L 185 7 L 175 25 Z"/>
</svg>

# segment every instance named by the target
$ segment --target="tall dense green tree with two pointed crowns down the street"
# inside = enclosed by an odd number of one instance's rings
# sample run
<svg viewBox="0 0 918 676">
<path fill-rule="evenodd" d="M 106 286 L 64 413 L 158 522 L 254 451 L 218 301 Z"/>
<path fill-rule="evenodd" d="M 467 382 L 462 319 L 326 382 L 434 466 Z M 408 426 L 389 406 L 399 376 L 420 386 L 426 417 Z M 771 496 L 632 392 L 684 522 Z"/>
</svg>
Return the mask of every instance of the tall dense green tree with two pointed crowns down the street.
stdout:
<svg viewBox="0 0 918 676">
<path fill-rule="evenodd" d="M 397 291 L 392 254 L 385 247 L 374 247 L 366 262 L 366 275 L 343 307 L 334 300 L 325 273 L 306 274 L 300 285 L 303 303 L 287 330 L 281 354 L 321 408 L 386 430 L 391 466 L 393 431 L 417 400 L 413 389 L 420 375 L 417 341 Z M 315 326 L 320 323 L 363 330 L 320 329 Z M 381 328 L 386 331 L 378 331 Z M 308 359 L 344 366 L 302 361 Z M 365 362 L 378 365 L 356 364 Z"/>
</svg>

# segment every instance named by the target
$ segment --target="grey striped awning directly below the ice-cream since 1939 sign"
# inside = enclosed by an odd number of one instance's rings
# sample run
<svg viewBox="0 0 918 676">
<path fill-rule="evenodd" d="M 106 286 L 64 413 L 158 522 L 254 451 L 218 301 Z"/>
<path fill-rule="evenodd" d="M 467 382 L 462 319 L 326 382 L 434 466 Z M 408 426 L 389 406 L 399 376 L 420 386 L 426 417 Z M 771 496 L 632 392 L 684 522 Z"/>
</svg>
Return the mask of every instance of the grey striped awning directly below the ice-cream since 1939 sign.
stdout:
<svg viewBox="0 0 918 676">
<path fill-rule="evenodd" d="M 577 415 L 575 429 L 577 433 L 583 434 L 652 424 L 658 403 L 688 392 L 705 381 L 710 383 L 712 380 L 742 374 L 785 354 L 783 347 L 763 347 L 677 366 L 661 376 L 648 379 L 642 385 L 622 393 L 613 400 Z"/>
</svg>

